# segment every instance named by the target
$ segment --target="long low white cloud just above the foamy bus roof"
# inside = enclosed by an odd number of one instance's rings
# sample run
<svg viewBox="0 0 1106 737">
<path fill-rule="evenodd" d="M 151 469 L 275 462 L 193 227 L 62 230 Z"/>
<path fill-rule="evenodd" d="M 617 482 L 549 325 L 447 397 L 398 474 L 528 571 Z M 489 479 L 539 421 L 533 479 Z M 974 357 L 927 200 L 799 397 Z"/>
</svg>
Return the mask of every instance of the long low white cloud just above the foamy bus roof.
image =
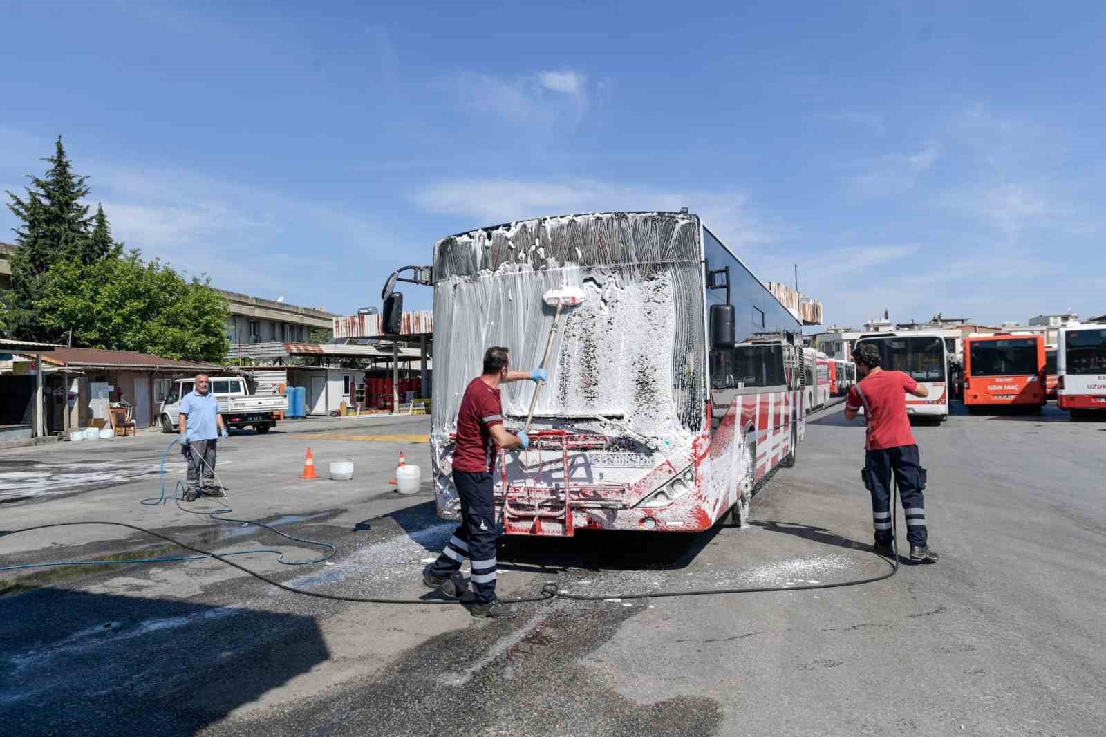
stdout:
<svg viewBox="0 0 1106 737">
<path fill-rule="evenodd" d="M 429 212 L 469 219 L 461 228 L 572 212 L 687 207 L 734 247 L 774 242 L 785 230 L 752 215 L 739 191 L 662 190 L 594 179 L 449 179 L 414 193 L 411 199 Z"/>
</svg>

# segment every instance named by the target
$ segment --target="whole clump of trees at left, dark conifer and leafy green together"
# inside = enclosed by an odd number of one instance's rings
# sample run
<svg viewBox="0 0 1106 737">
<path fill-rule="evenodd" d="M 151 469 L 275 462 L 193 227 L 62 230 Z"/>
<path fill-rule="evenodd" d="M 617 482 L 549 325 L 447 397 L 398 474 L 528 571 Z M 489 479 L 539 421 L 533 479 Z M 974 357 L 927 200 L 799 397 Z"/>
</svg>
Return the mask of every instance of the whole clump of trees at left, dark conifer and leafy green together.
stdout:
<svg viewBox="0 0 1106 737">
<path fill-rule="evenodd" d="M 11 259 L 12 289 L 0 331 L 24 340 L 167 359 L 222 361 L 227 304 L 209 280 L 123 252 L 103 206 L 88 217 L 85 177 L 73 173 L 61 137 L 51 168 L 29 177 L 25 197 L 8 193 L 22 221 Z M 7 324 L 4 324 L 7 322 Z"/>
</svg>

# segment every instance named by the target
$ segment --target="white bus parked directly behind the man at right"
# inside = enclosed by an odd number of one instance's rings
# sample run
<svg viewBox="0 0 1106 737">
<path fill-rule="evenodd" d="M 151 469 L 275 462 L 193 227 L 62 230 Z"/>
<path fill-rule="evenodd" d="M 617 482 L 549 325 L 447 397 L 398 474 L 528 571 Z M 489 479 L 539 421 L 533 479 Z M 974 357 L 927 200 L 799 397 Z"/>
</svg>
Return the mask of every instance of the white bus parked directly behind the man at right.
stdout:
<svg viewBox="0 0 1106 737">
<path fill-rule="evenodd" d="M 869 333 L 856 341 L 859 347 L 870 343 L 879 349 L 883 367 L 901 371 L 929 390 L 929 396 L 921 398 L 906 395 L 906 411 L 910 415 L 936 417 L 949 416 L 949 353 L 940 333 L 900 331 Z"/>
</svg>

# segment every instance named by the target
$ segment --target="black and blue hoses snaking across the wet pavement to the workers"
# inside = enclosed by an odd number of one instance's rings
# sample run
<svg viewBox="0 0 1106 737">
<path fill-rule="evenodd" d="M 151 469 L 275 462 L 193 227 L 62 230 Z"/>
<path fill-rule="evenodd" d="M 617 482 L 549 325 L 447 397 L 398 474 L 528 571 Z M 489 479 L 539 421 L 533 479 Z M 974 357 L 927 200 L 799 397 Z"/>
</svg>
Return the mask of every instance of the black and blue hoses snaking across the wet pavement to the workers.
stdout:
<svg viewBox="0 0 1106 737">
<path fill-rule="evenodd" d="M 241 522 L 243 525 L 255 525 L 258 527 L 263 527 L 267 530 L 271 530 L 271 531 L 275 532 L 276 534 L 280 534 L 281 537 L 286 538 L 289 540 L 295 540 L 296 542 L 304 542 L 306 544 L 312 544 L 312 546 L 319 546 L 319 547 L 323 547 L 323 548 L 328 548 L 330 552 L 326 556 L 324 556 L 323 558 L 319 558 L 319 559 L 314 559 L 314 560 L 309 560 L 309 561 L 285 561 L 284 560 L 284 553 L 282 551 L 280 551 L 280 550 L 242 550 L 242 551 L 236 551 L 236 552 L 229 552 L 229 553 L 215 553 L 215 552 L 210 552 L 210 551 L 207 551 L 207 550 L 201 550 L 199 548 L 195 548 L 192 546 L 186 544 L 186 543 L 180 542 L 179 540 L 170 538 L 170 537 L 168 537 L 166 534 L 161 534 L 160 532 L 154 532 L 153 530 L 147 530 L 145 528 L 138 527 L 137 525 L 127 525 L 126 522 L 109 522 L 109 521 L 53 522 L 51 525 L 35 525 L 33 527 L 24 527 L 24 528 L 20 528 L 20 529 L 17 529 L 17 530 L 6 530 L 3 532 L 0 532 L 0 537 L 7 537 L 9 534 L 18 534 L 20 532 L 30 532 L 32 530 L 45 530 L 45 529 L 58 528 L 58 527 L 75 527 L 75 526 L 79 526 L 79 525 L 109 525 L 109 526 L 114 526 L 114 527 L 124 527 L 124 528 L 127 528 L 127 529 L 131 529 L 131 530 L 136 530 L 138 532 L 143 532 L 145 534 L 153 536 L 155 538 L 160 538 L 161 540 L 166 540 L 168 542 L 171 542 L 171 543 L 174 543 L 176 546 L 179 546 L 179 547 L 184 548 L 185 550 L 190 550 L 190 551 L 192 551 L 192 552 L 195 552 L 197 554 L 196 556 L 165 557 L 165 558 L 148 558 L 148 559 L 139 559 L 139 560 L 119 560 L 119 561 L 96 561 L 96 560 L 93 560 L 93 561 L 50 561 L 50 562 L 44 562 L 44 563 L 24 563 L 24 564 L 21 564 L 21 565 L 4 565 L 4 567 L 0 567 L 0 571 L 10 571 L 10 570 L 25 569 L 25 568 L 40 568 L 40 567 L 46 567 L 46 565 L 129 565 L 129 564 L 133 564 L 133 563 L 167 563 L 167 562 L 181 561 L 181 560 L 201 560 L 201 559 L 205 559 L 205 558 L 211 558 L 213 560 L 219 561 L 220 563 L 226 563 L 227 565 L 230 565 L 232 568 L 237 568 L 238 570 L 240 570 L 240 571 L 242 571 L 244 573 L 249 573 L 253 578 L 255 578 L 255 579 L 258 579 L 260 581 L 264 581 L 269 585 L 275 587 L 275 588 L 281 589 L 283 591 L 288 591 L 290 593 L 302 594 L 304 596 L 314 596 L 316 599 L 331 599 L 331 600 L 334 600 L 334 601 L 345 601 L 345 602 L 366 603 L 366 604 L 460 604 L 460 603 L 462 603 L 460 600 L 457 600 L 457 599 L 448 599 L 448 600 L 440 600 L 440 599 L 384 599 L 384 598 L 376 598 L 376 596 L 344 596 L 342 594 L 332 594 L 332 593 L 325 593 L 325 592 L 321 592 L 321 591 L 307 591 L 306 589 L 299 589 L 296 587 L 290 587 L 288 584 L 281 583 L 280 581 L 274 581 L 273 579 L 271 579 L 271 578 L 269 578 L 269 577 L 267 577 L 267 575 L 264 575 L 262 573 L 258 573 L 257 571 L 250 570 L 250 569 L 246 568 L 244 565 L 241 565 L 239 563 L 236 563 L 232 560 L 229 560 L 230 556 L 244 556 L 244 554 L 249 554 L 249 553 L 276 553 L 276 554 L 280 556 L 280 558 L 278 559 L 278 561 L 281 562 L 281 563 L 284 563 L 285 565 L 306 565 L 309 563 L 321 563 L 321 562 L 323 562 L 323 561 L 332 558 L 335 554 L 335 552 L 337 552 L 337 546 L 331 544 L 328 542 L 319 542 L 319 541 L 315 541 L 315 540 L 306 540 L 306 539 L 303 539 L 303 538 L 296 538 L 296 537 L 288 534 L 285 532 L 281 532 L 280 530 L 278 530 L 274 527 L 270 527 L 269 525 L 264 525 L 263 522 L 258 522 L 258 521 L 254 521 L 254 520 L 242 520 L 242 519 L 234 519 L 234 518 L 231 518 L 231 517 L 218 517 L 217 516 L 217 515 L 220 515 L 220 513 L 223 513 L 223 512 L 230 512 L 230 511 L 232 511 L 229 508 L 228 509 L 216 509 L 216 510 L 212 510 L 212 511 L 198 511 L 198 510 L 185 509 L 184 507 L 180 506 L 180 501 L 182 500 L 182 497 L 178 497 L 176 495 L 167 497 L 166 494 L 165 494 L 165 459 L 169 455 L 169 450 L 173 448 L 174 444 L 176 444 L 176 443 L 177 443 L 177 439 L 175 438 L 171 443 L 169 443 L 169 446 L 165 449 L 165 453 L 161 455 L 161 471 L 160 471 L 160 476 L 161 476 L 161 495 L 159 497 L 152 497 L 149 499 L 143 499 L 142 504 L 147 505 L 147 506 L 156 506 L 156 505 L 165 504 L 169 499 L 174 499 L 177 502 L 177 507 L 181 511 L 187 511 L 187 512 L 194 513 L 194 515 L 207 515 L 211 519 L 218 519 L 220 521 Z M 202 456 L 198 456 L 198 457 L 202 460 Z M 206 465 L 206 461 L 205 461 L 205 465 Z M 211 467 L 208 466 L 208 468 L 211 468 Z M 215 474 L 215 469 L 213 468 L 211 468 L 211 473 Z M 218 480 L 220 488 L 222 488 L 222 481 L 219 479 L 218 476 L 216 476 L 216 480 Z M 177 487 L 174 490 L 176 491 L 181 486 L 182 486 L 181 481 L 177 481 Z M 223 491 L 223 492 L 226 494 L 226 491 Z M 555 581 L 546 581 L 545 583 L 542 584 L 542 593 L 541 593 L 540 596 L 522 596 L 522 598 L 513 598 L 513 599 L 502 599 L 501 601 L 503 601 L 505 603 L 509 603 L 509 604 L 524 604 L 524 603 L 532 603 L 532 602 L 551 601 L 553 599 L 565 599 L 565 600 L 570 600 L 570 601 L 606 601 L 606 600 L 609 600 L 609 599 L 620 599 L 620 600 L 626 600 L 626 599 L 629 599 L 629 600 L 634 600 L 634 599 L 662 599 L 662 598 L 672 598 L 672 596 L 707 596 L 707 595 L 719 595 L 719 594 L 769 593 L 769 592 L 776 592 L 776 591 L 814 591 L 814 590 L 817 590 L 817 589 L 839 589 L 839 588 L 844 588 L 844 587 L 858 587 L 858 585 L 863 585 L 863 584 L 866 584 L 866 583 L 875 583 L 877 581 L 883 581 L 885 579 L 891 578 L 893 575 L 895 575 L 898 572 L 898 569 L 899 569 L 898 547 L 897 547 L 897 542 L 896 542 L 896 530 L 895 530 L 895 517 L 896 517 L 897 511 L 898 511 L 898 482 L 896 480 L 895 486 L 894 486 L 894 495 L 893 495 L 893 499 L 891 499 L 891 548 L 893 548 L 893 551 L 894 551 L 894 560 L 888 561 L 886 558 L 884 558 L 884 557 L 880 556 L 880 560 L 885 561 L 888 565 L 890 565 L 890 571 L 888 571 L 887 573 L 883 573 L 881 575 L 874 575 L 874 577 L 870 577 L 870 578 L 857 579 L 857 580 L 852 580 L 852 581 L 838 581 L 838 582 L 835 582 L 835 583 L 806 583 L 806 584 L 803 584 L 803 585 L 793 585 L 793 587 L 782 587 L 781 585 L 781 587 L 754 587 L 754 588 L 740 588 L 740 589 L 738 589 L 738 588 L 732 588 L 732 589 L 681 589 L 681 590 L 675 590 L 675 591 L 651 591 L 651 592 L 648 592 L 648 593 L 603 593 L 603 594 L 593 594 L 593 595 L 572 594 L 572 593 L 568 593 L 567 591 L 562 591 L 561 589 L 559 589 Z"/>
</svg>

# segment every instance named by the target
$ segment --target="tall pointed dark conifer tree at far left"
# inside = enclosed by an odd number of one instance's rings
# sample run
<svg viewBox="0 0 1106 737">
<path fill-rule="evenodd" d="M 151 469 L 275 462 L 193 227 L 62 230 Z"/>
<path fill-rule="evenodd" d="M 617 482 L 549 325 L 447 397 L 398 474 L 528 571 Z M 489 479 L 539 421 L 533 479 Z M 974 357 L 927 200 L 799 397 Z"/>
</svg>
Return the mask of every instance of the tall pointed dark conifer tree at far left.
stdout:
<svg viewBox="0 0 1106 737">
<path fill-rule="evenodd" d="M 8 191 L 10 209 L 23 221 L 15 229 L 15 251 L 11 256 L 12 290 L 8 330 L 23 339 L 56 338 L 43 330 L 38 320 L 38 304 L 46 287 L 46 272 L 61 259 L 88 263 L 88 207 L 81 198 L 88 194 L 85 177 L 73 174 L 62 137 L 58 136 L 51 166 L 45 176 L 29 176 L 25 199 Z M 106 221 L 105 221 L 106 222 Z"/>
</svg>

